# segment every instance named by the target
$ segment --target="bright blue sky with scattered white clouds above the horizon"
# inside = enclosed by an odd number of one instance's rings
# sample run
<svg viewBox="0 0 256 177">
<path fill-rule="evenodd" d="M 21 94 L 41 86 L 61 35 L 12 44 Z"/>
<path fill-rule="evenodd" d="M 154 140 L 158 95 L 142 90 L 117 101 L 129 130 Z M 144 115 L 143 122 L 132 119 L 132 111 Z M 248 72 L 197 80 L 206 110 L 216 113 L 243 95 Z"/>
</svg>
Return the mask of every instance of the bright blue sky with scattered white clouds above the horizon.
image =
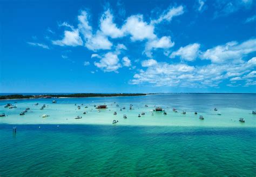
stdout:
<svg viewBox="0 0 256 177">
<path fill-rule="evenodd" d="M 0 1 L 1 93 L 256 93 L 256 2 Z"/>
</svg>

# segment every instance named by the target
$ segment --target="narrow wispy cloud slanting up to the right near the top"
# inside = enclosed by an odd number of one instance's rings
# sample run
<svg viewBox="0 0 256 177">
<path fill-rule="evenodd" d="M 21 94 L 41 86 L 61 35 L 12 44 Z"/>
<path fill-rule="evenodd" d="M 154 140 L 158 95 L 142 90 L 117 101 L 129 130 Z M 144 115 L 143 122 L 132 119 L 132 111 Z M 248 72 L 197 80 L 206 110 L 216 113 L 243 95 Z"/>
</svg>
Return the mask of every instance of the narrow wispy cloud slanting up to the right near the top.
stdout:
<svg viewBox="0 0 256 177">
<path fill-rule="evenodd" d="M 151 24 L 161 23 L 163 21 L 170 22 L 173 17 L 182 15 L 183 13 L 184 8 L 182 5 L 178 7 L 170 7 L 168 10 L 164 11 L 158 19 L 151 21 Z"/>
</svg>

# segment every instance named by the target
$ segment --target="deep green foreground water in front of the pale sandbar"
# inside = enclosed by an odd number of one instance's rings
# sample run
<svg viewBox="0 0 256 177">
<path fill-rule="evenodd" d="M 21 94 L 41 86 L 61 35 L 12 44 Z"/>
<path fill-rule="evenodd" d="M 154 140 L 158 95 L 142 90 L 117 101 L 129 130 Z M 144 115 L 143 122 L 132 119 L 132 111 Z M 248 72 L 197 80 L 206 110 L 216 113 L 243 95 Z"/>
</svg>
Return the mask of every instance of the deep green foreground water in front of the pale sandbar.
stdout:
<svg viewBox="0 0 256 177">
<path fill-rule="evenodd" d="M 255 176 L 256 128 L 0 125 L 0 176 Z"/>
</svg>

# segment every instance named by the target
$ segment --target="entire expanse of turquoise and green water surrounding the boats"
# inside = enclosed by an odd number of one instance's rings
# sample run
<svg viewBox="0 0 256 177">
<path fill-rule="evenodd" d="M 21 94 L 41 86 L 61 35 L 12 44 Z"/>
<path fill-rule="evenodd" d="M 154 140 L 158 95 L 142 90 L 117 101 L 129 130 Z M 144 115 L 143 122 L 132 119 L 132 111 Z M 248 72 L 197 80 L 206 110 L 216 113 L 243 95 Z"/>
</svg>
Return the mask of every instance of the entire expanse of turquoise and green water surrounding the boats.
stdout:
<svg viewBox="0 0 256 177">
<path fill-rule="evenodd" d="M 4 105 L 14 100 L 0 101 L 0 113 L 6 114 L 0 118 L 0 176 L 255 176 L 255 100 L 255 94 L 160 94 L 63 98 L 57 104 L 16 100 L 13 109 Z M 82 103 L 77 110 L 74 104 Z M 104 103 L 107 110 L 93 107 Z M 43 104 L 48 106 L 39 110 Z M 167 115 L 151 115 L 154 105 Z M 19 116 L 26 107 L 29 112 Z M 138 118 L 142 111 L 146 115 Z"/>
</svg>

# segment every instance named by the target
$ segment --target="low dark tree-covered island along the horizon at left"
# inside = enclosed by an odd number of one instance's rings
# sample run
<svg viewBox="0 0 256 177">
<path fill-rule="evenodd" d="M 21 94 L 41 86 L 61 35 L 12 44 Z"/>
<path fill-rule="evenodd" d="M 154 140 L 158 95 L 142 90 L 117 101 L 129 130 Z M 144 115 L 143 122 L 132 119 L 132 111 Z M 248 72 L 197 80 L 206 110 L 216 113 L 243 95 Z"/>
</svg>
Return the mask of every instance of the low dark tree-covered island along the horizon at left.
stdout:
<svg viewBox="0 0 256 177">
<path fill-rule="evenodd" d="M 145 96 L 146 93 L 73 93 L 73 94 L 40 94 L 23 95 L 9 94 L 0 96 L 0 100 L 6 99 L 37 99 L 37 98 L 83 98 L 83 97 L 124 97 L 124 96 Z"/>
</svg>

